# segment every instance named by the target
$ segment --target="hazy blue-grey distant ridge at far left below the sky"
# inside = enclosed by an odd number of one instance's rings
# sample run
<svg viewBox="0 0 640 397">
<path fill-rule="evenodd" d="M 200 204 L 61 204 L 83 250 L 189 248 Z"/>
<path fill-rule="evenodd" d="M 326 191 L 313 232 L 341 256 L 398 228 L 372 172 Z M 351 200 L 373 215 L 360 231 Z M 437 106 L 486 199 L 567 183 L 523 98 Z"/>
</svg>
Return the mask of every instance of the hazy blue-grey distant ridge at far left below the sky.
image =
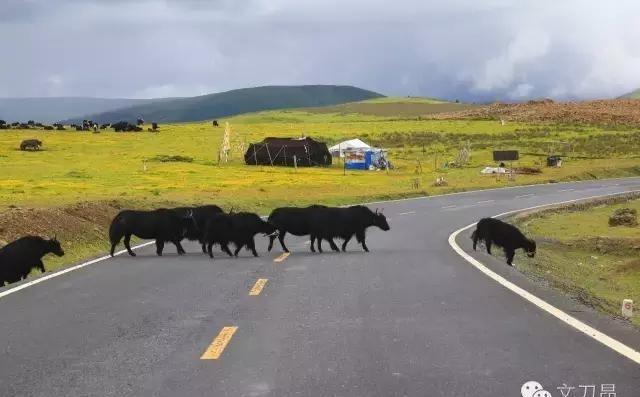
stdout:
<svg viewBox="0 0 640 397">
<path fill-rule="evenodd" d="M 43 123 L 52 123 L 73 117 L 82 117 L 85 114 L 102 113 L 154 101 L 157 101 L 157 99 L 88 97 L 0 98 L 0 119 L 23 122 L 34 120 Z"/>
</svg>

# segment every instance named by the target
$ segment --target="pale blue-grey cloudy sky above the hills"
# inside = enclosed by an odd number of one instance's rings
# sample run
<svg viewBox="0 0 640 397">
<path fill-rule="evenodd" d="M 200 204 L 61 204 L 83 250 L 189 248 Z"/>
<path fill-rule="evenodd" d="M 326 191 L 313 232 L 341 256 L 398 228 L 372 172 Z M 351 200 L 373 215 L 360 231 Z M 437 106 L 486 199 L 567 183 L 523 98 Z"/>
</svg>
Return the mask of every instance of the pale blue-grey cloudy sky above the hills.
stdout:
<svg viewBox="0 0 640 397">
<path fill-rule="evenodd" d="M 640 87 L 640 2 L 0 0 L 0 49 L 0 97 L 612 97 Z"/>
</svg>

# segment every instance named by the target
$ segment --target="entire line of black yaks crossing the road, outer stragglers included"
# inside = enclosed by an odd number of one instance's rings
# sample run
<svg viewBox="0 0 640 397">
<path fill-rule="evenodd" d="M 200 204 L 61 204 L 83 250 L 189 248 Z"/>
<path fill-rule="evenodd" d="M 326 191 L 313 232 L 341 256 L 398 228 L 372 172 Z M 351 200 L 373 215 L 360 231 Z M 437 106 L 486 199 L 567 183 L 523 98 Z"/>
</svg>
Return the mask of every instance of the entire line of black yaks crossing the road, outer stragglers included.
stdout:
<svg viewBox="0 0 640 397">
<path fill-rule="evenodd" d="M 197 241 L 204 254 L 213 259 L 213 247 L 219 246 L 230 257 L 237 257 L 243 247 L 254 256 L 258 256 L 255 236 L 262 234 L 269 238 L 268 251 L 271 251 L 275 239 L 282 250 L 289 252 L 285 244 L 287 233 L 295 236 L 310 236 L 312 252 L 322 252 L 322 241 L 326 241 L 332 250 L 346 251 L 347 244 L 355 237 L 362 249 L 369 251 L 366 244 L 366 230 L 375 226 L 383 231 L 390 230 L 387 218 L 378 210 L 356 205 L 351 207 L 327 207 L 311 205 L 305 208 L 276 208 L 265 220 L 250 212 L 225 213 L 216 205 L 197 207 L 161 208 L 151 211 L 124 210 L 118 213 L 109 227 L 111 256 L 120 241 L 131 256 L 131 237 L 154 240 L 156 253 L 162 256 L 166 243 L 175 245 L 179 255 L 185 254 L 182 240 Z M 334 239 L 341 239 L 338 247 Z M 536 253 L 536 243 L 525 237 L 515 226 L 494 218 L 481 219 L 471 235 L 473 249 L 483 241 L 487 252 L 492 246 L 504 249 L 507 264 L 513 266 L 516 249 L 522 248 L 529 257 Z M 235 250 L 229 248 L 233 245 Z M 4 283 L 24 280 L 32 269 L 44 272 L 42 257 L 53 253 L 63 256 L 60 242 L 54 237 L 50 240 L 37 236 L 20 238 L 0 248 L 0 287 Z"/>
</svg>

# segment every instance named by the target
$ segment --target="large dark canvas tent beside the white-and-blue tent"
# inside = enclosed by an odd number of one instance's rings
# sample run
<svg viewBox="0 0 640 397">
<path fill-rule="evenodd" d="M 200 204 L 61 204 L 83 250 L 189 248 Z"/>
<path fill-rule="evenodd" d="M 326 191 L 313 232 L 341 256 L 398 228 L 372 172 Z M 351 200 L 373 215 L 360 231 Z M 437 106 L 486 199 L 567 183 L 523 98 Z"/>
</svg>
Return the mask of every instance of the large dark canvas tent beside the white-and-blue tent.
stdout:
<svg viewBox="0 0 640 397">
<path fill-rule="evenodd" d="M 295 160 L 294 160 L 295 156 Z M 244 155 L 248 165 L 315 167 L 331 165 L 327 145 L 311 138 L 265 138 L 252 143 Z"/>
</svg>

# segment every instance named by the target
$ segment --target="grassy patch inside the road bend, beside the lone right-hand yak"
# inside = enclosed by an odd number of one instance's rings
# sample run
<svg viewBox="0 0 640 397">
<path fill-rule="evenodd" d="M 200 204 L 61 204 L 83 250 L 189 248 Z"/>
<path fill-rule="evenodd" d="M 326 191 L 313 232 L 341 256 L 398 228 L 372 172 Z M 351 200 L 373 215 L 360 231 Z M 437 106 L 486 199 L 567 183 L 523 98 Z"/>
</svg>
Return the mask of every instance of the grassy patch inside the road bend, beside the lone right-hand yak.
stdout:
<svg viewBox="0 0 640 397">
<path fill-rule="evenodd" d="M 617 201 L 518 219 L 539 242 L 536 257 L 522 256 L 518 269 L 612 315 L 625 298 L 640 302 L 640 227 L 608 225 L 616 209 L 640 212 L 640 199 Z M 640 318 L 633 323 L 640 326 Z"/>
</svg>

